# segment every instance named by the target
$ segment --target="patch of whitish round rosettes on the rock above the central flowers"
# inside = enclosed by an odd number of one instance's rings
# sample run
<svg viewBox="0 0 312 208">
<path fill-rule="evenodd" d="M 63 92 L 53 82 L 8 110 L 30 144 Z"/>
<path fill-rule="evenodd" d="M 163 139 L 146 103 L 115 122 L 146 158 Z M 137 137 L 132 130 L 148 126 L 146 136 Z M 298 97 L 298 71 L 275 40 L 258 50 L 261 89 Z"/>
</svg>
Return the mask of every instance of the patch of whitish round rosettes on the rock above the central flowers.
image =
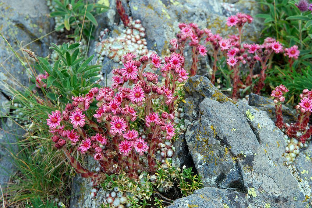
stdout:
<svg viewBox="0 0 312 208">
<path fill-rule="evenodd" d="M 125 27 L 118 37 L 107 37 L 108 29 L 100 32 L 99 42 L 95 48 L 96 56 L 100 62 L 106 56 L 113 59 L 114 62 L 122 64 L 122 56 L 128 52 L 136 53 L 139 56 L 156 53 L 147 49 L 145 28 L 142 26 L 141 21 L 133 21 L 131 17 L 129 20 L 129 26 Z"/>
</svg>

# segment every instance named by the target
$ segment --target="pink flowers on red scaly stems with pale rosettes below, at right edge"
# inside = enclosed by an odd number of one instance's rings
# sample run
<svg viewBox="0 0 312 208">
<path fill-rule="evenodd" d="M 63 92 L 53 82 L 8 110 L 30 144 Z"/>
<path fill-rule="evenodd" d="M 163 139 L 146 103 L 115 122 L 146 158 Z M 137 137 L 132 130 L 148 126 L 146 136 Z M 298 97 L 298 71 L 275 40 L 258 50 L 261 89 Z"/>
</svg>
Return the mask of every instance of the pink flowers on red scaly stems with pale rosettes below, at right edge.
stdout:
<svg viewBox="0 0 312 208">
<path fill-rule="evenodd" d="M 311 139 L 312 127 L 309 126 L 310 115 L 312 112 L 312 90 L 304 89 L 300 94 L 300 102 L 296 105 L 298 118 L 295 123 L 285 123 L 283 120 L 282 103 L 285 101 L 283 96 L 288 89 L 283 86 L 277 86 L 272 90 L 271 96 L 275 97 L 276 126 L 285 133 L 285 138 L 289 138 L 286 147 L 286 159 L 292 163 L 299 154 L 299 148 L 305 146 L 307 140 Z"/>
</svg>

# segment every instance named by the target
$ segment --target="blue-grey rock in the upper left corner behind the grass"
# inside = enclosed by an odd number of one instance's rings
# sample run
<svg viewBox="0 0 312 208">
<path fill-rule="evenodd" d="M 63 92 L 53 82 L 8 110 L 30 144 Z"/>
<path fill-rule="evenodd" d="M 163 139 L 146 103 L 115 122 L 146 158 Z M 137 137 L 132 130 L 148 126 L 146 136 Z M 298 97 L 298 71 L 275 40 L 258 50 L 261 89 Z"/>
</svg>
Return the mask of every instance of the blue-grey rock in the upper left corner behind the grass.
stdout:
<svg viewBox="0 0 312 208">
<path fill-rule="evenodd" d="M 3 18 L 0 19 L 1 33 L 27 67 L 27 62 L 19 50 L 20 47 L 31 49 L 42 57 L 48 55 L 49 44 L 53 42 L 55 35 L 45 36 L 53 30 L 53 18 L 47 16 L 50 11 L 46 6 L 46 1 L 20 0 L 17 3 L 17 1 L 3 0 L 0 10 L 3 13 Z M 32 41 L 34 42 L 31 43 Z M 28 85 L 29 83 L 27 71 L 3 39 L 1 42 L 0 90 L 7 90 L 3 82 L 22 89 L 21 84 Z M 25 56 L 28 58 L 28 54 L 25 53 Z"/>
</svg>

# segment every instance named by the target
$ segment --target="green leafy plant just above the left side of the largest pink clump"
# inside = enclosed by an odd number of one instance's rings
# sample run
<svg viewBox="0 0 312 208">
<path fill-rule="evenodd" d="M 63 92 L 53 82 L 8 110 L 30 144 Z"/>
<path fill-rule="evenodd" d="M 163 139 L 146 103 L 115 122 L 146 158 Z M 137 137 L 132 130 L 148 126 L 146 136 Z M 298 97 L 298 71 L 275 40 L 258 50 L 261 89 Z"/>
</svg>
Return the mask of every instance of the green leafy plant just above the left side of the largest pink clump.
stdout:
<svg viewBox="0 0 312 208">
<path fill-rule="evenodd" d="M 47 88 L 51 87 L 51 92 L 48 92 L 47 96 L 51 100 L 57 100 L 62 95 L 59 99 L 66 103 L 71 95 L 88 93 L 90 88 L 95 86 L 94 82 L 100 79 L 98 72 L 102 67 L 90 65 L 94 55 L 87 59 L 80 57 L 79 43 L 51 45 L 50 49 L 59 54 L 59 59 L 53 66 L 46 58 L 38 57 L 39 71 L 41 73 L 46 71 L 49 74 L 47 79 L 42 79 Z"/>
</svg>

